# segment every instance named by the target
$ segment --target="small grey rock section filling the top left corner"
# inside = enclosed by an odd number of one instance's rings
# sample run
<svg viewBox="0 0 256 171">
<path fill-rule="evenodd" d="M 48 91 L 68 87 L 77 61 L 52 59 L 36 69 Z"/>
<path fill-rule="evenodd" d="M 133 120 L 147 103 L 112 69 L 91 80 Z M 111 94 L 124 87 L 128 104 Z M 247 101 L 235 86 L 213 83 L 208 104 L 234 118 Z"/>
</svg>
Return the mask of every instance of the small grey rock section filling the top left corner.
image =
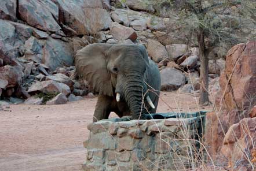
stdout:
<svg viewBox="0 0 256 171">
<path fill-rule="evenodd" d="M 0 1 L 0 18 L 5 20 L 16 20 L 16 0 Z"/>
</svg>

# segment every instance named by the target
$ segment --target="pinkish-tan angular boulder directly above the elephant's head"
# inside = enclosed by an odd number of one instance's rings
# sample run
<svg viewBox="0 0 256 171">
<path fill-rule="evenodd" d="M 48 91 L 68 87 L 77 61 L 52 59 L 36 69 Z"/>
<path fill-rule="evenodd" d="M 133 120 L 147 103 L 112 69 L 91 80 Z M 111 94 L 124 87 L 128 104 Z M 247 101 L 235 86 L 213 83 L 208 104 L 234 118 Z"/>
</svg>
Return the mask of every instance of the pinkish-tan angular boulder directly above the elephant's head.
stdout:
<svg viewBox="0 0 256 171">
<path fill-rule="evenodd" d="M 116 22 L 112 23 L 110 33 L 116 40 L 130 39 L 134 41 L 137 39 L 137 34 L 133 28 L 125 27 Z"/>
</svg>

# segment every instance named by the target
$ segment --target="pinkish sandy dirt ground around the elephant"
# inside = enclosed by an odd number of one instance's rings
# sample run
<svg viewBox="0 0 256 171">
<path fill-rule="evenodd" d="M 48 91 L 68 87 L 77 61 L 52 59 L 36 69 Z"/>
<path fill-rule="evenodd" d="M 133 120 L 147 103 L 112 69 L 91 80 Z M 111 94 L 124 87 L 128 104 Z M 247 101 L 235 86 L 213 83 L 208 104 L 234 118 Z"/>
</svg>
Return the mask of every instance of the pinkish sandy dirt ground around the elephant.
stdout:
<svg viewBox="0 0 256 171">
<path fill-rule="evenodd" d="M 82 170 L 96 98 L 65 105 L 10 105 L 0 111 L 0 170 Z M 198 94 L 162 92 L 158 112 L 212 110 Z M 115 117 L 115 114 L 111 114 Z"/>
</svg>

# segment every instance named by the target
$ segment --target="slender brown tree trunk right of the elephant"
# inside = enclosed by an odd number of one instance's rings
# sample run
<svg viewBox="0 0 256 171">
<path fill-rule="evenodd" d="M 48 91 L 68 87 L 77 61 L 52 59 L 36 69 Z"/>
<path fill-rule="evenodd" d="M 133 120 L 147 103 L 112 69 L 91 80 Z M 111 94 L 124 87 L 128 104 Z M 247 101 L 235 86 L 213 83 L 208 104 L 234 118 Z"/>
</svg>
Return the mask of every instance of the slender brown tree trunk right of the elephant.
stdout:
<svg viewBox="0 0 256 171">
<path fill-rule="evenodd" d="M 199 43 L 199 53 L 201 60 L 200 67 L 200 97 L 199 104 L 206 105 L 209 103 L 209 53 L 207 52 L 206 46 L 204 44 L 204 32 L 203 28 L 200 29 L 198 35 L 198 43 Z"/>
</svg>

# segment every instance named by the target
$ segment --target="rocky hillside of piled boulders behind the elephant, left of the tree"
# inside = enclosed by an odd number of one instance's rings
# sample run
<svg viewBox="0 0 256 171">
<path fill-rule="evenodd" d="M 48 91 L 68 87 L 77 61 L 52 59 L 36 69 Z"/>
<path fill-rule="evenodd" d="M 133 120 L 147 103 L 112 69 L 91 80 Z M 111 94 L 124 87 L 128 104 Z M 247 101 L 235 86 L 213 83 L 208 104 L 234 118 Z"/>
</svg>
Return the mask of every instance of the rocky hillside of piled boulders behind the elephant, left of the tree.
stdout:
<svg viewBox="0 0 256 171">
<path fill-rule="evenodd" d="M 1 99 L 10 102 L 12 97 L 14 103 L 20 103 L 35 94 L 41 95 L 32 99 L 57 95 L 61 88 L 42 91 L 41 82 L 50 76 L 58 77 L 52 80 L 56 86 L 64 83 L 64 76 L 72 79 L 74 86 L 65 95 L 86 95 L 89 92 L 86 81 L 75 80 L 74 54 L 95 42 L 144 44 L 162 70 L 162 90 L 177 90 L 185 84 L 188 85 L 182 92 L 198 90 L 198 49 L 177 44 L 181 42 L 175 33 L 167 33 L 168 23 L 175 18 L 159 17 L 154 12 L 153 6 L 146 8 L 140 0 L 126 4 L 109 0 L 2 0 Z M 213 78 L 222 68 L 214 69 Z M 31 99 L 26 103 L 29 102 Z"/>
</svg>

